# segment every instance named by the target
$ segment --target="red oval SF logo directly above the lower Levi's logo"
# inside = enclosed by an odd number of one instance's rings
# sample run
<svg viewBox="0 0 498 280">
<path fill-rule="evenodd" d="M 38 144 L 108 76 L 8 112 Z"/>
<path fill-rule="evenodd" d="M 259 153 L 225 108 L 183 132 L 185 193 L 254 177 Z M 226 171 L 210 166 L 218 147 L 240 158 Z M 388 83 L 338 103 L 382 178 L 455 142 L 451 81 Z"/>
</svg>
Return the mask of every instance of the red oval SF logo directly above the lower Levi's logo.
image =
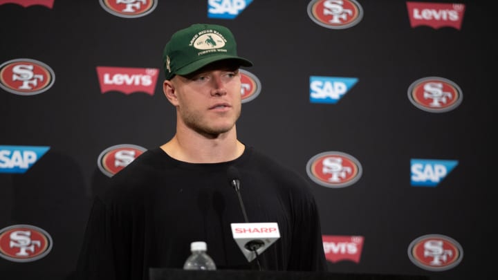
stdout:
<svg viewBox="0 0 498 280">
<path fill-rule="evenodd" d="M 356 158 L 347 153 L 326 151 L 308 160 L 306 173 L 318 185 L 337 189 L 348 187 L 360 180 L 362 166 Z"/>
</svg>

